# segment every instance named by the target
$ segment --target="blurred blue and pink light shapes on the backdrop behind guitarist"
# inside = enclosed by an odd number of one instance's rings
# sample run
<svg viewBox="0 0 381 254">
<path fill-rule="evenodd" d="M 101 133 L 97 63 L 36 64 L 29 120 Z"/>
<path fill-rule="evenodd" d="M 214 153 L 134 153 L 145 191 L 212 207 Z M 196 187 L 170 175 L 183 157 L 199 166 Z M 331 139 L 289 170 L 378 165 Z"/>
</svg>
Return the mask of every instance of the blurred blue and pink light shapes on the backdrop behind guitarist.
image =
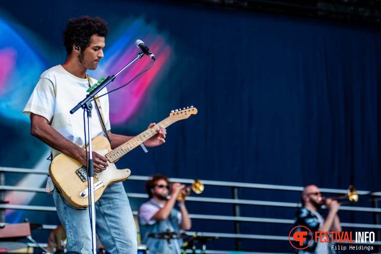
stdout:
<svg viewBox="0 0 381 254">
<path fill-rule="evenodd" d="M 17 31 L 22 32 L 22 29 L 17 29 Z M 140 49 L 134 45 L 136 39 L 146 42 L 157 58 L 152 69 L 135 79 L 129 86 L 110 94 L 110 108 L 112 109 L 110 120 L 114 125 L 121 126 L 132 116 L 137 106 L 143 103 L 152 86 L 160 82 L 159 74 L 161 74 L 163 66 L 167 64 L 172 50 L 165 44 L 165 39 L 158 35 L 159 32 L 155 27 L 146 24 L 143 18 L 122 21 L 120 28 L 113 29 L 112 34 L 113 37 L 110 36 L 106 40 L 105 58 L 101 60 L 99 68 L 89 72 L 92 77 L 100 79 L 114 75 L 126 66 L 140 52 Z M 11 28 L 11 25 L 0 19 L 0 115 L 8 122 L 19 120 L 29 124 L 29 118 L 22 114 L 22 110 L 41 73 L 51 66 L 59 64 L 47 64 L 42 60 L 48 59 L 54 62 L 54 59 L 49 56 L 49 52 L 37 52 L 34 49 L 33 44 L 38 43 L 38 41 L 33 41 L 35 38 L 38 37 L 30 36 L 30 32 L 26 29 L 25 33 L 18 34 Z M 152 60 L 148 56 L 144 56 L 119 75 L 118 79 L 107 89 L 110 91 L 127 83 L 151 64 Z M 7 121 L 3 121 L 0 125 Z M 30 138 L 32 137 L 30 136 Z M 23 140 L 23 142 L 24 145 L 28 145 L 28 140 Z M 30 167 L 48 171 L 47 149 L 37 151 L 37 153 L 41 158 L 38 163 L 30 165 Z M 14 166 L 17 167 L 17 165 Z M 15 185 L 44 187 L 45 182 L 46 177 L 41 175 L 26 175 Z M 9 191 L 5 195 L 5 200 L 12 200 L 12 204 L 25 205 L 29 204 L 33 197 L 33 193 Z M 6 221 L 17 222 L 22 218 L 22 214 L 21 210 L 6 210 Z"/>
</svg>

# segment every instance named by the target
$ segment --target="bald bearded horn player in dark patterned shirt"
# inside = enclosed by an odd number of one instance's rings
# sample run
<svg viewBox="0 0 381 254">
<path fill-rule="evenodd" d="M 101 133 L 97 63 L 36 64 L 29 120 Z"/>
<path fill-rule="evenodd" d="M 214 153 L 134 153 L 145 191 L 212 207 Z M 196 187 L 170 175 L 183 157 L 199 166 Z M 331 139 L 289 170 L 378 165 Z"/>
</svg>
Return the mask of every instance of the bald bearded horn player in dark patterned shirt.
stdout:
<svg viewBox="0 0 381 254">
<path fill-rule="evenodd" d="M 295 226 L 304 226 L 312 232 L 306 236 L 305 243 L 310 243 L 311 238 L 314 238 L 317 231 L 336 231 L 341 232 L 340 218 L 337 214 L 340 204 L 337 200 L 330 198 L 324 199 L 319 188 L 316 185 L 308 185 L 304 187 L 301 193 L 302 206 L 298 208 L 295 214 Z M 327 217 L 318 212 L 318 209 L 325 205 L 329 210 Z M 300 228 L 299 228 L 300 229 Z M 328 242 L 328 241 L 327 241 Z M 331 248 L 331 241 L 329 243 L 322 243 L 312 241 L 311 245 L 304 249 L 298 250 L 298 254 L 336 254 L 335 250 Z"/>
</svg>

